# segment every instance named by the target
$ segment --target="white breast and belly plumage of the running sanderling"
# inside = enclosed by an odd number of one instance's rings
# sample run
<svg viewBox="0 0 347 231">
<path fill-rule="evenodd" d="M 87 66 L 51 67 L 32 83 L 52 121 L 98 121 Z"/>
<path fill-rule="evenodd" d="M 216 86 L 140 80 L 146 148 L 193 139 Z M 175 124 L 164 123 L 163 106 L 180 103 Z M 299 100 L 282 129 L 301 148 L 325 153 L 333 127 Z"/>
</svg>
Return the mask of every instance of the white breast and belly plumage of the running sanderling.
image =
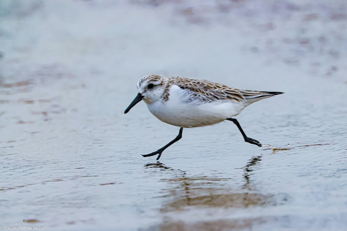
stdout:
<svg viewBox="0 0 347 231">
<path fill-rule="evenodd" d="M 147 104 L 150 112 L 164 123 L 178 127 L 202 127 L 220 123 L 242 112 L 247 105 L 237 101 L 220 100 L 201 103 L 190 100 L 188 90 L 177 85 L 170 88 L 169 100 Z"/>
</svg>

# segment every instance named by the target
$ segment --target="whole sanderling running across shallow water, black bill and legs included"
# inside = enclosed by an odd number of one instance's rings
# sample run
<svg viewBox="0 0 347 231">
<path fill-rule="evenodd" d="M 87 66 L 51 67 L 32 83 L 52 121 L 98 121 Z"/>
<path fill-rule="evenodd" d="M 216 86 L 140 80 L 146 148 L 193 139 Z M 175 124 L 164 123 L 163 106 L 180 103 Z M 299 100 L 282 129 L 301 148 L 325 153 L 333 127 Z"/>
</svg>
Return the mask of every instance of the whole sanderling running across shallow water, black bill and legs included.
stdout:
<svg viewBox="0 0 347 231">
<path fill-rule="evenodd" d="M 162 122 L 180 127 L 177 137 L 167 145 L 150 154 L 161 153 L 182 138 L 184 127 L 202 127 L 225 120 L 234 122 L 246 142 L 262 146 L 259 141 L 246 136 L 234 117 L 248 105 L 264 98 L 283 94 L 272 91 L 250 91 L 231 88 L 220 83 L 185 77 L 165 78 L 156 74 L 145 75 L 137 82 L 139 93 L 124 113 L 139 101 L 145 101 L 150 112 Z"/>
</svg>

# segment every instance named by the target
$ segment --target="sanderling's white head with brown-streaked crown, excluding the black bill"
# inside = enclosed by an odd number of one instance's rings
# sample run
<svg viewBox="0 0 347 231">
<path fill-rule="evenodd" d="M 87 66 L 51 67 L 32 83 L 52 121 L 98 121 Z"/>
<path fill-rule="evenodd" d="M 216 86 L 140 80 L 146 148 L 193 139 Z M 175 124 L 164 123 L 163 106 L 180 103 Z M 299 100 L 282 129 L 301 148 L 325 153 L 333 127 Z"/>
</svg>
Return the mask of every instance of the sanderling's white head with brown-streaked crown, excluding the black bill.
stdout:
<svg viewBox="0 0 347 231">
<path fill-rule="evenodd" d="M 145 75 L 137 82 L 138 92 L 143 96 L 146 104 L 158 101 L 166 88 L 168 80 L 160 75 Z"/>
</svg>

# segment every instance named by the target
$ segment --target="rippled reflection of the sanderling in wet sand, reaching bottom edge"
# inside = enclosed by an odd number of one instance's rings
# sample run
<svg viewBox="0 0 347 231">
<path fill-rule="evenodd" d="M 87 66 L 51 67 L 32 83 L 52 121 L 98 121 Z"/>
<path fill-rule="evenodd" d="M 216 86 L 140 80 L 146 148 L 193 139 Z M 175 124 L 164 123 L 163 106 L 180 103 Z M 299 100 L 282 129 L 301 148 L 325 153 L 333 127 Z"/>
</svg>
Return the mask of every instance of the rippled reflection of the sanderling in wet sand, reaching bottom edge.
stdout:
<svg viewBox="0 0 347 231">
<path fill-rule="evenodd" d="M 213 217 L 212 214 L 214 211 L 218 211 L 219 208 L 221 208 L 220 211 L 225 211 L 227 208 L 232 208 L 229 211 L 237 211 L 237 209 L 250 206 L 276 205 L 276 197 L 273 194 L 262 193 L 255 190 L 254 187 L 252 187 L 253 189 L 249 187 L 250 176 L 252 176 L 251 171 L 257 168 L 256 165 L 259 165 L 261 160 L 262 156 L 252 157 L 242 168 L 243 177 L 246 179 L 244 186 L 239 184 L 239 181 L 242 181 L 239 175 L 240 170 L 236 171 L 238 177 L 226 173 L 223 173 L 223 175 L 192 176 L 191 172 L 188 171 L 188 174 L 186 174 L 185 171 L 178 169 L 172 172 L 174 177 L 170 177 L 170 174 L 163 174 L 163 176 L 169 177 L 160 180 L 167 182 L 167 184 L 161 189 L 161 197 L 164 198 L 164 203 L 160 208 L 160 212 L 164 214 L 164 219 L 158 230 L 183 230 L 182 227 L 188 227 L 187 230 L 238 230 L 240 227 L 246 227 L 247 230 L 250 227 L 251 229 L 252 224 L 257 221 L 247 221 L 243 224 L 243 221 L 240 222 L 239 219 L 229 219 L 228 214 L 226 214 L 226 216 L 211 218 L 209 219 L 210 223 L 206 223 L 205 216 L 211 214 L 211 217 Z M 147 164 L 145 167 L 172 170 L 172 168 L 160 162 Z M 235 180 L 238 181 L 236 185 Z M 213 208 L 213 210 L 209 208 Z M 200 213 L 201 218 L 192 220 L 189 216 L 181 216 L 183 218 L 177 221 L 177 217 L 184 214 L 184 211 L 193 211 L 194 214 Z"/>
</svg>

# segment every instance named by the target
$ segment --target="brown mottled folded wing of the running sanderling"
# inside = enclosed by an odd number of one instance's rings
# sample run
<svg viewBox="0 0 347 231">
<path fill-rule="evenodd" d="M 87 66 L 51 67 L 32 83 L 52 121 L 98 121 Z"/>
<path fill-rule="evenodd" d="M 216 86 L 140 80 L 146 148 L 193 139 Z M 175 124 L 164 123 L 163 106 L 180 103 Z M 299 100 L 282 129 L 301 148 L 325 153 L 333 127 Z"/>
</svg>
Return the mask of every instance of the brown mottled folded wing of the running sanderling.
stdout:
<svg viewBox="0 0 347 231">
<path fill-rule="evenodd" d="M 213 102 L 221 99 L 245 101 L 243 94 L 236 88 L 230 88 L 220 83 L 204 79 L 190 79 L 185 77 L 170 77 L 169 83 L 182 89 L 194 92 L 202 101 Z"/>
</svg>

